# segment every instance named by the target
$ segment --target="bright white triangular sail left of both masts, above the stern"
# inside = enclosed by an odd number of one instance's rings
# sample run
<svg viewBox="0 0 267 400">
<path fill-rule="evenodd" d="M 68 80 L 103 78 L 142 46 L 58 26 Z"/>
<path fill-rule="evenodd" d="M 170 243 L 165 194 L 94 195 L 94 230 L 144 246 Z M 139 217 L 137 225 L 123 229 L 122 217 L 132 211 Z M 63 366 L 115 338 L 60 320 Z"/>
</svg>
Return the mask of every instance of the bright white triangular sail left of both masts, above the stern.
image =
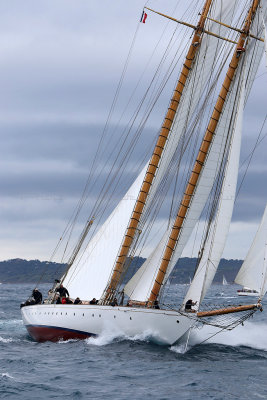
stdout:
<svg viewBox="0 0 267 400">
<path fill-rule="evenodd" d="M 107 285 L 129 218 L 139 194 L 147 165 L 99 231 L 77 258 L 64 280 L 71 297 L 99 299 Z"/>
</svg>

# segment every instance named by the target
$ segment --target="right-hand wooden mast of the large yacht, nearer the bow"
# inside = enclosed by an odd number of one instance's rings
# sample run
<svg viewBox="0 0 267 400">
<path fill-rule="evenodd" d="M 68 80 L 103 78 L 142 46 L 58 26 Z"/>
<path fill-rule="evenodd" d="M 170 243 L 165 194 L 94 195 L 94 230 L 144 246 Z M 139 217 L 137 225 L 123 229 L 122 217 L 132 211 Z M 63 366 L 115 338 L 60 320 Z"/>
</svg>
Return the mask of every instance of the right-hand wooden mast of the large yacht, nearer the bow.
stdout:
<svg viewBox="0 0 267 400">
<path fill-rule="evenodd" d="M 175 249 L 177 241 L 178 241 L 179 233 L 183 226 L 183 222 L 185 220 L 187 211 L 190 207 L 191 199 L 194 196 L 195 188 L 197 186 L 198 179 L 201 174 L 201 170 L 206 161 L 207 154 L 208 154 L 209 148 L 211 146 L 216 127 L 220 120 L 220 116 L 221 116 L 221 113 L 223 110 L 225 100 L 227 98 L 227 94 L 230 90 L 231 83 L 235 77 L 235 71 L 238 67 L 240 59 L 242 58 L 243 47 L 245 45 L 246 38 L 249 36 L 251 22 L 254 18 L 258 4 L 259 4 L 259 0 L 253 0 L 252 6 L 249 9 L 249 12 L 248 12 L 245 24 L 244 24 L 243 32 L 240 34 L 238 44 L 237 44 L 234 54 L 232 56 L 228 71 L 226 73 L 226 77 L 222 84 L 222 88 L 221 88 L 218 100 L 215 104 L 210 122 L 208 124 L 206 133 L 202 140 L 202 144 L 200 146 L 200 150 L 199 150 L 197 159 L 195 161 L 191 176 L 189 178 L 189 181 L 186 186 L 186 190 L 185 190 L 183 198 L 181 200 L 180 207 L 179 207 L 179 210 L 177 213 L 177 217 L 176 217 L 176 220 L 172 227 L 172 231 L 169 236 L 168 243 L 165 247 L 164 255 L 162 257 L 162 261 L 161 261 L 160 267 L 158 269 L 158 273 L 157 273 L 153 288 L 151 290 L 151 293 L 150 293 L 150 296 L 148 299 L 149 307 L 152 307 L 154 304 L 154 301 L 157 300 L 157 298 L 158 298 L 161 286 L 163 284 L 163 281 L 164 281 L 164 278 L 165 278 L 165 275 L 167 272 L 167 268 L 169 266 L 169 262 L 171 260 L 171 257 L 173 255 L 174 249 Z"/>
</svg>

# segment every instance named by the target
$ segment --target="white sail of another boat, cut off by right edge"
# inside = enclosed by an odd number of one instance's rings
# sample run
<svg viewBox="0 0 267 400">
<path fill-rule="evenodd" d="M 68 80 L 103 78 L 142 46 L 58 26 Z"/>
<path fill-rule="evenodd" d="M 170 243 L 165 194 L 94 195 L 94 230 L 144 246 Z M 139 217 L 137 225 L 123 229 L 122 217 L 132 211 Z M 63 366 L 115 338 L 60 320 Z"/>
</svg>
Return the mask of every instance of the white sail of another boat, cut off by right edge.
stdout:
<svg viewBox="0 0 267 400">
<path fill-rule="evenodd" d="M 235 278 L 235 283 L 256 290 L 262 296 L 266 293 L 266 242 L 267 205 L 249 252 Z"/>
</svg>

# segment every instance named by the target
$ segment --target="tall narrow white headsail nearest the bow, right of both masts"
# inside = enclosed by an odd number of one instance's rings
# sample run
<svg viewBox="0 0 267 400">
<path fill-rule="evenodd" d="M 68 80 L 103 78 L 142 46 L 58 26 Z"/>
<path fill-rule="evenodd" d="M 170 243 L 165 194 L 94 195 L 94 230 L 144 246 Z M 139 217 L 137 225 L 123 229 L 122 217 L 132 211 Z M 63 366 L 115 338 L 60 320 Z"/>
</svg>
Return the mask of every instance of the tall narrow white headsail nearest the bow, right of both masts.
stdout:
<svg viewBox="0 0 267 400">
<path fill-rule="evenodd" d="M 225 247 L 232 219 L 241 147 L 245 94 L 244 85 L 245 82 L 243 79 L 240 89 L 239 103 L 236 110 L 236 119 L 233 124 L 231 147 L 229 149 L 218 211 L 215 220 L 211 225 L 199 266 L 183 302 L 184 306 L 187 300 L 192 299 L 194 302 L 197 302 L 196 307 L 194 307 L 195 309 L 199 308 L 213 281 Z"/>
</svg>

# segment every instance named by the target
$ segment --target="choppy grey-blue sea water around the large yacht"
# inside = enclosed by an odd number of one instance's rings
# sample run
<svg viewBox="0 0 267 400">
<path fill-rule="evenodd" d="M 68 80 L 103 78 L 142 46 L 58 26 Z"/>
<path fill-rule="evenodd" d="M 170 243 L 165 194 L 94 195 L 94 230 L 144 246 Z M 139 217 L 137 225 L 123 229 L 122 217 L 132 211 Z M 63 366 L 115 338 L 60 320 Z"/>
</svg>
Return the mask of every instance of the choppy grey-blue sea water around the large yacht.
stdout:
<svg viewBox="0 0 267 400">
<path fill-rule="evenodd" d="M 40 287 L 43 292 L 47 288 Z M 204 343 L 218 330 L 194 330 L 184 352 L 181 346 L 159 346 L 146 337 L 112 334 L 36 343 L 23 326 L 19 308 L 31 289 L 0 285 L 0 399 L 267 398 L 267 301 L 264 311 L 244 326 Z M 176 285 L 171 293 L 184 290 Z M 208 297 L 239 301 L 234 285 L 214 285 Z"/>
</svg>

